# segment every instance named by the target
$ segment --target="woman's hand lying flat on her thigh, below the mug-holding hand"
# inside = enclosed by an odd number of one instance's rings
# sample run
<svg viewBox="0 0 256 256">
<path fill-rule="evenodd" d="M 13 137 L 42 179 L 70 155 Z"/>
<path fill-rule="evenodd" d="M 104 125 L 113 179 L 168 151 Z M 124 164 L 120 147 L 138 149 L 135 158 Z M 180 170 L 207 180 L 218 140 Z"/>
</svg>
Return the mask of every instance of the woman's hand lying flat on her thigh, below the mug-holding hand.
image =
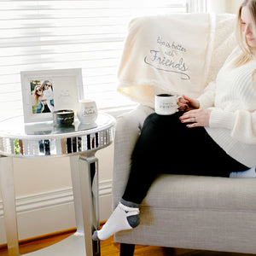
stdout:
<svg viewBox="0 0 256 256">
<path fill-rule="evenodd" d="M 187 125 L 189 128 L 198 126 L 209 126 L 209 119 L 211 115 L 211 109 L 195 109 L 183 113 L 179 118 L 182 123 L 190 123 Z"/>
</svg>

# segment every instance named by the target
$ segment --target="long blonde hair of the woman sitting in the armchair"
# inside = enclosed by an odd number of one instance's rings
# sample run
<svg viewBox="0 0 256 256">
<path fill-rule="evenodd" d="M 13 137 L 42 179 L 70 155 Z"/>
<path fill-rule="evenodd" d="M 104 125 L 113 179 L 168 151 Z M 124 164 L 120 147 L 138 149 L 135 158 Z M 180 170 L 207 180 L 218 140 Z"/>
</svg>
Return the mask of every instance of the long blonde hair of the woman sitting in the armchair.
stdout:
<svg viewBox="0 0 256 256">
<path fill-rule="evenodd" d="M 245 0 L 241 3 L 236 20 L 236 39 L 242 52 L 241 55 L 236 58 L 234 67 L 241 67 L 256 57 L 256 49 L 253 49 L 249 44 L 247 44 L 247 39 L 241 29 L 241 9 L 243 7 L 247 7 L 249 9 L 253 19 L 253 34 L 255 33 L 256 35 L 256 0 Z M 256 90 L 256 69 L 254 69 L 252 73 L 252 85 L 253 89 Z"/>
</svg>

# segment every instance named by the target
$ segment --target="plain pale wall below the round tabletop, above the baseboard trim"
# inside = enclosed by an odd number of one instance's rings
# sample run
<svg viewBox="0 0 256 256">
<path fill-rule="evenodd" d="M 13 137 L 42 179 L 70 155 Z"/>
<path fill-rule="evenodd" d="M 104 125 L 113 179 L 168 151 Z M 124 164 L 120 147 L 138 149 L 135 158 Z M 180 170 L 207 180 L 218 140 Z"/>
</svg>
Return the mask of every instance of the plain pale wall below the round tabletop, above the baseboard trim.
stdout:
<svg viewBox="0 0 256 256">
<path fill-rule="evenodd" d="M 113 145 L 96 152 L 100 183 L 112 179 Z M 17 197 L 72 187 L 68 157 L 47 159 L 14 159 Z"/>
</svg>

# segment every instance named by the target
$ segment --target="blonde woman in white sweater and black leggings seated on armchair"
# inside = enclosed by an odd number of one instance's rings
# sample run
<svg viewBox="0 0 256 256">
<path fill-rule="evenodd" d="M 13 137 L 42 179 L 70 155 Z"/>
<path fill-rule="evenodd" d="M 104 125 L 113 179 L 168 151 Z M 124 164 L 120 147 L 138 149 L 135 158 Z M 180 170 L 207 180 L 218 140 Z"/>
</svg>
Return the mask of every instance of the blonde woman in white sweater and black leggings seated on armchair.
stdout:
<svg viewBox="0 0 256 256">
<path fill-rule="evenodd" d="M 145 120 L 125 193 L 93 239 L 135 228 L 139 205 L 161 173 L 256 177 L 256 0 L 241 4 L 237 34 L 239 47 L 198 99 L 183 96 L 183 111 Z"/>
</svg>

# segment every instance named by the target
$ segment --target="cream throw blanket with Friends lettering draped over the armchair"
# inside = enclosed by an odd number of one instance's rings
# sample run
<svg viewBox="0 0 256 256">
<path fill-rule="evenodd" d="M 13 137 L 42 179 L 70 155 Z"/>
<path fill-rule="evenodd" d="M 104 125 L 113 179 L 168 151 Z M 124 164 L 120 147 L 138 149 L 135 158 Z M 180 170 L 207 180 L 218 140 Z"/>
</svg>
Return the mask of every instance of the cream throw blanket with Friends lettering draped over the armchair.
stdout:
<svg viewBox="0 0 256 256">
<path fill-rule="evenodd" d="M 131 20 L 118 90 L 154 107 L 154 95 L 197 97 L 236 46 L 234 15 L 172 14 Z"/>
</svg>

